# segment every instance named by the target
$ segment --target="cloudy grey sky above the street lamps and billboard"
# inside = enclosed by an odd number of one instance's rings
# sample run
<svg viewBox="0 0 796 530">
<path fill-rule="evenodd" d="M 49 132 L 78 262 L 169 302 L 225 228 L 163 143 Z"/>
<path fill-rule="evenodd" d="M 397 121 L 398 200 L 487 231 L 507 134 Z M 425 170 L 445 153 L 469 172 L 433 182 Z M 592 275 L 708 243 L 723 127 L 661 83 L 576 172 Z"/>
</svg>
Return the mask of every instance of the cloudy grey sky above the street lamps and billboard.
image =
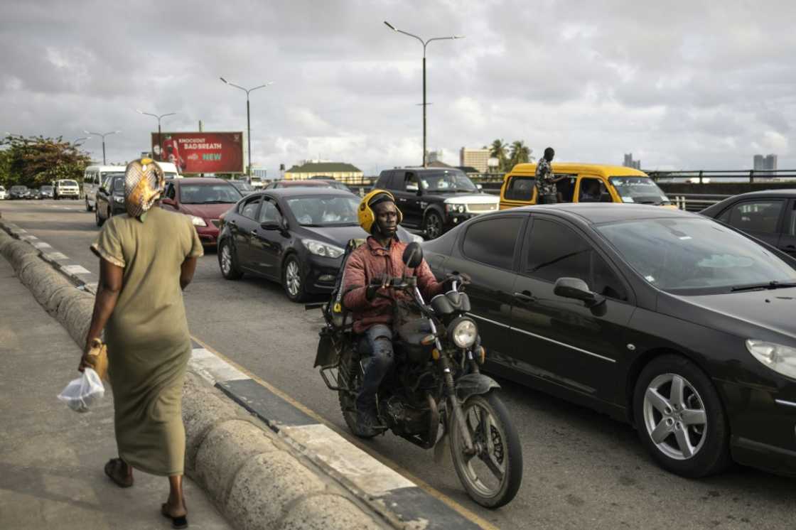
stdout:
<svg viewBox="0 0 796 530">
<path fill-rule="evenodd" d="M 796 3 L 4 0 L 0 132 L 113 131 L 109 162 L 164 131 L 242 131 L 252 162 L 306 158 L 366 174 L 421 161 L 419 42 L 428 46 L 428 146 L 524 140 L 568 161 L 646 169 L 796 168 Z M 85 147 L 102 157 L 99 138 Z"/>
</svg>

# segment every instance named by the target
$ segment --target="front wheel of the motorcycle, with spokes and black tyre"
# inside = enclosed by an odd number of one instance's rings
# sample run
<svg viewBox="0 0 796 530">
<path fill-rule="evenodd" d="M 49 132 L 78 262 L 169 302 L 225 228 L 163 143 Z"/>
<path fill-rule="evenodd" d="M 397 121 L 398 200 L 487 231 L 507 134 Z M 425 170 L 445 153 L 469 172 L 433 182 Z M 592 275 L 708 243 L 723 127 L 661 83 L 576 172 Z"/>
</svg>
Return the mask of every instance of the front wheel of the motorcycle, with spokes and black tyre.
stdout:
<svg viewBox="0 0 796 530">
<path fill-rule="evenodd" d="M 475 454 L 466 454 L 462 431 L 451 419 L 451 456 L 467 494 L 485 508 L 508 504 L 522 482 L 522 448 L 509 412 L 494 392 L 470 396 L 462 417 Z"/>
</svg>

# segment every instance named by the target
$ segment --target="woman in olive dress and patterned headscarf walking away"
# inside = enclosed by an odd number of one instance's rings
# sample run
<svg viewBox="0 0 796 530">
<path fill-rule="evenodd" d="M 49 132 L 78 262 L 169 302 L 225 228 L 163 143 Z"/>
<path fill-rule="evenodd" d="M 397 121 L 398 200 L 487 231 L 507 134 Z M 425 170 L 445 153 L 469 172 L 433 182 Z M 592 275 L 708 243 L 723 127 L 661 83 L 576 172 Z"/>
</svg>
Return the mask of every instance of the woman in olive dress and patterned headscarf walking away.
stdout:
<svg viewBox="0 0 796 530">
<path fill-rule="evenodd" d="M 100 283 L 85 352 L 104 329 L 119 448 L 105 473 L 123 488 L 133 485 L 133 468 L 169 477 L 161 512 L 174 528 L 185 528 L 181 399 L 191 340 L 181 290 L 193 279 L 202 247 L 188 216 L 159 207 L 163 188 L 156 162 L 142 158 L 127 166 L 127 215 L 108 219 L 92 244 Z M 84 353 L 81 371 L 86 361 Z"/>
</svg>

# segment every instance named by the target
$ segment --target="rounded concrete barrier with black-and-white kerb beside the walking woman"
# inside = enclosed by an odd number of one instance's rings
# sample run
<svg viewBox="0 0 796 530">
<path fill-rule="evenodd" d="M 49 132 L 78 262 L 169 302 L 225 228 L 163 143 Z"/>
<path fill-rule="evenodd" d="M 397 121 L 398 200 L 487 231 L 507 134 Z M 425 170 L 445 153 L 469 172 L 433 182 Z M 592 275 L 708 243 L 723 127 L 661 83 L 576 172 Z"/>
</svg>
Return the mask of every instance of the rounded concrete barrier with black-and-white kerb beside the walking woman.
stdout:
<svg viewBox="0 0 796 530">
<path fill-rule="evenodd" d="M 0 220 L 0 228 L 0 254 L 82 347 L 91 273 L 14 224 Z M 185 473 L 236 528 L 490 527 L 195 339 L 182 415 Z"/>
</svg>

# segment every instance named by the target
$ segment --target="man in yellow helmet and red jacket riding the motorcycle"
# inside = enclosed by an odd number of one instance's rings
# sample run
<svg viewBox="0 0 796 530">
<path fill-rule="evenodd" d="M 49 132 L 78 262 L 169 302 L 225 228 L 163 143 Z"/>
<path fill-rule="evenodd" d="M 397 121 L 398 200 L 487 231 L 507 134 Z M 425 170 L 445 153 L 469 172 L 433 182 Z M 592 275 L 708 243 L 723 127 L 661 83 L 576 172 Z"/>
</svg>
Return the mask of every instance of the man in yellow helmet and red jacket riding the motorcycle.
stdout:
<svg viewBox="0 0 796 530">
<path fill-rule="evenodd" d="M 357 421 L 361 428 L 369 430 L 378 427 L 376 394 L 393 364 L 392 299 L 406 296 L 390 289 L 389 280 L 416 276 L 425 299 L 449 289 L 451 280 L 437 282 L 425 259 L 415 269 L 404 265 L 407 244 L 396 236 L 402 215 L 392 193 L 373 190 L 362 198 L 357 213 L 360 226 L 370 236 L 345 264 L 342 302 L 353 314 L 354 333 L 365 337 L 372 355 L 356 401 Z"/>
</svg>

